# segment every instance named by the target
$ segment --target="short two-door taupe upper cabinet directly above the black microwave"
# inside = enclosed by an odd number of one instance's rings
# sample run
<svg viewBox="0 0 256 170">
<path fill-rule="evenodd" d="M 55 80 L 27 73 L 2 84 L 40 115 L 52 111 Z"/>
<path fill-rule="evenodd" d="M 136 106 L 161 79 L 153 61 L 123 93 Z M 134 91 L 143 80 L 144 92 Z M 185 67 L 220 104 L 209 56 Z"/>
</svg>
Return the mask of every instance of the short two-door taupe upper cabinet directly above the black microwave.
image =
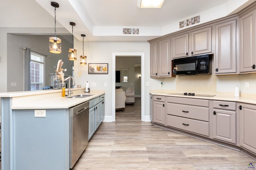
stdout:
<svg viewBox="0 0 256 170">
<path fill-rule="evenodd" d="M 212 27 L 172 37 L 172 59 L 212 52 Z"/>
</svg>

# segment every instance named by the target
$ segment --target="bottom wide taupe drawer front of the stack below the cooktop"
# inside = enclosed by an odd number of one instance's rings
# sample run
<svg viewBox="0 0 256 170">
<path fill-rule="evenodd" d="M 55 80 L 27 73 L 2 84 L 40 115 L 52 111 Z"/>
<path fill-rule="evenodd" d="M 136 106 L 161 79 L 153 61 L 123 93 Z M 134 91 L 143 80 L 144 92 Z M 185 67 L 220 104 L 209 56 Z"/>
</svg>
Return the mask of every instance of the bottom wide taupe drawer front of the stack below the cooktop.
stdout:
<svg viewBox="0 0 256 170">
<path fill-rule="evenodd" d="M 166 125 L 209 137 L 208 122 L 167 115 Z"/>
</svg>

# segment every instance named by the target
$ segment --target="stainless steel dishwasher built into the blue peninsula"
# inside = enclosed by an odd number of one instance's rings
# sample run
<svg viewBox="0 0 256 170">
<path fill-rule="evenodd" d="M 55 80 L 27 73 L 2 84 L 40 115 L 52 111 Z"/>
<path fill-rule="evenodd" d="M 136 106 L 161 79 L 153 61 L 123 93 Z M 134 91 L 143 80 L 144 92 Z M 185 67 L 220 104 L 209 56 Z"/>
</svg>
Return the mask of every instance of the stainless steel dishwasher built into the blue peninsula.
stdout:
<svg viewBox="0 0 256 170">
<path fill-rule="evenodd" d="M 69 108 L 69 166 L 76 161 L 88 145 L 89 102 Z"/>
</svg>

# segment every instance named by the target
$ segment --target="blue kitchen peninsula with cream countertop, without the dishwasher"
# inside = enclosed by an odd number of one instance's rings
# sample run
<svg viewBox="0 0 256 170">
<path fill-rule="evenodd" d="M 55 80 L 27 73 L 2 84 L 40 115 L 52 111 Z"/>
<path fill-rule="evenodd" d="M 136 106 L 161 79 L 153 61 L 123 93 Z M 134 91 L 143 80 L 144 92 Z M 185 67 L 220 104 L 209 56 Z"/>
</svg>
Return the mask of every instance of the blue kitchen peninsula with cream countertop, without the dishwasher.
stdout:
<svg viewBox="0 0 256 170">
<path fill-rule="evenodd" d="M 62 90 L 0 93 L 2 169 L 68 170 L 70 168 L 69 108 L 87 101 L 90 101 L 90 107 L 100 102 L 104 104 L 105 95 L 104 90 L 84 93 L 84 88 L 75 88 L 72 91 L 74 93 L 72 96 L 77 94 L 92 96 L 61 97 Z M 38 109 L 45 111 L 45 117 L 36 117 Z M 100 115 L 95 117 L 100 117 L 99 123 L 101 123 L 104 119 L 104 106 L 97 113 Z M 92 117 L 93 127 L 95 119 Z"/>
</svg>

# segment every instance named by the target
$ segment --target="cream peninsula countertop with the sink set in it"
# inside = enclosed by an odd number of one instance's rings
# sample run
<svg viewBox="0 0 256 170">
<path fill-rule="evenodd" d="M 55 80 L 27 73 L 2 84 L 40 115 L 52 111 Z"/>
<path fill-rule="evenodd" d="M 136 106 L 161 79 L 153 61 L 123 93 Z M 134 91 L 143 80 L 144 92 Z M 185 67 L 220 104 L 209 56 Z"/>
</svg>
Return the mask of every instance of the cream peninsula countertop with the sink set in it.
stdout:
<svg viewBox="0 0 256 170">
<path fill-rule="evenodd" d="M 71 89 L 75 96 L 77 94 L 93 94 L 86 98 L 67 98 L 61 97 L 61 89 L 58 90 L 35 90 L 24 92 L 0 93 L 1 98 L 12 98 L 12 109 L 60 109 L 69 108 L 89 101 L 93 98 L 105 94 L 105 90 L 91 90 L 90 93 L 84 92 L 85 88 Z M 66 89 L 66 94 L 68 89 Z"/>
</svg>

